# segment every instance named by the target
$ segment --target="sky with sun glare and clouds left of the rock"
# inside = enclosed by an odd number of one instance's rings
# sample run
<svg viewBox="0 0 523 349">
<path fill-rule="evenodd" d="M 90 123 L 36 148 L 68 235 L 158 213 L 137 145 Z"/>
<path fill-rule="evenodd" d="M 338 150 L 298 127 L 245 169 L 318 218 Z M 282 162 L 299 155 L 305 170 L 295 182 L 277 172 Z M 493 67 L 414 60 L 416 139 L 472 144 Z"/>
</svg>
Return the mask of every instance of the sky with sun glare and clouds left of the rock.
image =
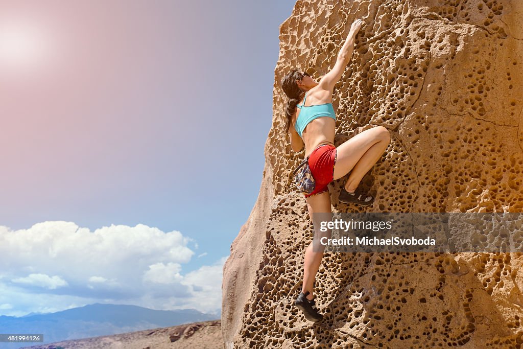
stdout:
<svg viewBox="0 0 523 349">
<path fill-rule="evenodd" d="M 219 311 L 293 6 L 0 0 L 0 315 Z"/>
</svg>

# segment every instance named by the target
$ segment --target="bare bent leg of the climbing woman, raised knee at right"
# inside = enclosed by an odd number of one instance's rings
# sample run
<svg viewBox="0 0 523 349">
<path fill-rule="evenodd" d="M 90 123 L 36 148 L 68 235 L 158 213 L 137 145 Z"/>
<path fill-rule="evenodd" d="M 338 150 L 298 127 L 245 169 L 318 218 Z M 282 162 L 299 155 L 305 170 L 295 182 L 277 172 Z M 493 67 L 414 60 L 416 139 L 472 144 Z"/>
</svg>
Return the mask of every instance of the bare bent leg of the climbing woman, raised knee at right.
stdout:
<svg viewBox="0 0 523 349">
<path fill-rule="evenodd" d="M 361 179 L 378 162 L 390 143 L 389 130 L 383 126 L 373 127 L 356 134 L 337 148 L 334 179 L 350 172 L 345 190 L 352 193 Z"/>
</svg>

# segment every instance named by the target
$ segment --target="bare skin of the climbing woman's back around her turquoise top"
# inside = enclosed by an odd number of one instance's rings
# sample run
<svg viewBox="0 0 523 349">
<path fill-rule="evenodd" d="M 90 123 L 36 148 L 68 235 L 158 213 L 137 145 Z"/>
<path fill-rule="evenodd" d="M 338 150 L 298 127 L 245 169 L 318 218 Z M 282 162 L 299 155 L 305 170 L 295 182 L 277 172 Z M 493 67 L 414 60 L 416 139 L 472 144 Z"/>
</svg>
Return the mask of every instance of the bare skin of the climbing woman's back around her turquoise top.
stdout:
<svg viewBox="0 0 523 349">
<path fill-rule="evenodd" d="M 332 94 L 324 89 L 313 87 L 307 93 L 304 107 L 332 103 Z M 303 98 L 299 103 L 303 104 Z M 301 109 L 296 108 L 294 125 L 300 116 Z M 319 117 L 310 121 L 303 130 L 301 138 L 305 144 L 305 156 L 308 156 L 318 145 L 322 143 L 334 144 L 334 134 L 336 132 L 336 121 L 328 116 Z"/>
</svg>

